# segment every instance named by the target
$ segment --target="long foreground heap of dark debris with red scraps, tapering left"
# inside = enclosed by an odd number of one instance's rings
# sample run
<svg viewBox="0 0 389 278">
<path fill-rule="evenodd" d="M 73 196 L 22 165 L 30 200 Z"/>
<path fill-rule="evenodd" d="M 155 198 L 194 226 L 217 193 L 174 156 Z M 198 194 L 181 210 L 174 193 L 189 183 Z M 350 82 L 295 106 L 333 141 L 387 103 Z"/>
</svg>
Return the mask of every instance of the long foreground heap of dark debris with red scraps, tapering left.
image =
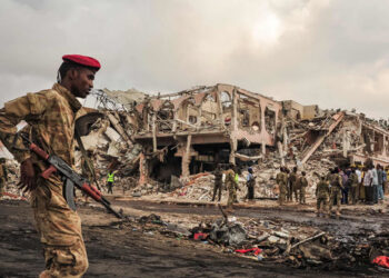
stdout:
<svg viewBox="0 0 389 278">
<path fill-rule="evenodd" d="M 137 220 L 147 235 L 193 240 L 260 262 L 295 268 L 356 270 L 371 266 L 375 258 L 389 255 L 389 231 L 343 232 L 278 220 L 206 219 L 192 228 L 150 215 Z M 186 224 L 190 225 L 190 224 Z M 138 229 L 138 228 L 137 228 Z M 379 270 L 388 271 L 385 268 Z"/>
</svg>

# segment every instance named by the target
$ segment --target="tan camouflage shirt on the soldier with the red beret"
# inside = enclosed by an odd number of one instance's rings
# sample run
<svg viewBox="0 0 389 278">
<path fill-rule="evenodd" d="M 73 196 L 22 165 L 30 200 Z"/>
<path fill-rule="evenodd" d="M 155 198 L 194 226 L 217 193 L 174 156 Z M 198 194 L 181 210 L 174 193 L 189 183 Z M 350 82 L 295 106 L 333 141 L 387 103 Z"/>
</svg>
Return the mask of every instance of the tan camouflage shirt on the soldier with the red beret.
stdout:
<svg viewBox="0 0 389 278">
<path fill-rule="evenodd" d="M 28 93 L 7 102 L 0 110 L 0 139 L 19 162 L 31 158 L 43 170 L 44 163 L 26 149 L 21 138 L 14 139 L 16 126 L 24 120 L 32 141 L 73 166 L 74 120 L 80 108 L 77 98 L 59 83 L 49 90 Z"/>
</svg>

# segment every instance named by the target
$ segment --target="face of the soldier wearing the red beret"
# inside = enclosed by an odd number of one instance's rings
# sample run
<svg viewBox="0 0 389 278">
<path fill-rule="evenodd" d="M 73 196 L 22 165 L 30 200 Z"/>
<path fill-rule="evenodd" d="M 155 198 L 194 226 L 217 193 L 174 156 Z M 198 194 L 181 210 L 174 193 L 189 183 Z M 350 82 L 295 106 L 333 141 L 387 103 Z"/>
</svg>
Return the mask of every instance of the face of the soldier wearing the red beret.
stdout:
<svg viewBox="0 0 389 278">
<path fill-rule="evenodd" d="M 71 92 L 76 97 L 84 99 L 93 88 L 94 75 L 96 71 L 88 68 L 77 70 L 71 83 Z"/>
</svg>

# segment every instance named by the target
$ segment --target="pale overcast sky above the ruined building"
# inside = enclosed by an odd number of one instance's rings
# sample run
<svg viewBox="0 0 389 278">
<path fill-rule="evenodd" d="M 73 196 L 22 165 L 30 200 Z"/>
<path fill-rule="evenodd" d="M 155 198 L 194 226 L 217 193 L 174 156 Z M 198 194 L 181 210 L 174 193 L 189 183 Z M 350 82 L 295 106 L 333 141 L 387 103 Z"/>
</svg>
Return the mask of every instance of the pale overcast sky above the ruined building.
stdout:
<svg viewBox="0 0 389 278">
<path fill-rule="evenodd" d="M 387 0 L 0 0 L 0 106 L 81 53 L 96 88 L 223 82 L 387 119 L 388 31 Z"/>
</svg>

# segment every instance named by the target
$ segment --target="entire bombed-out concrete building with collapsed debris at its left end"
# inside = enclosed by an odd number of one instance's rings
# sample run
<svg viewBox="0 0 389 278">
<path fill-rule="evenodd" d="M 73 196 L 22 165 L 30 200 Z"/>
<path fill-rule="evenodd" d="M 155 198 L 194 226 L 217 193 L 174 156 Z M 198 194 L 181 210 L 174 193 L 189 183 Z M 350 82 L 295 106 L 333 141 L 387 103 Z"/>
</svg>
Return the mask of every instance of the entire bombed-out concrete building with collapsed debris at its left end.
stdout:
<svg viewBox="0 0 389 278">
<path fill-rule="evenodd" d="M 78 120 L 79 133 L 100 181 L 117 169 L 127 188 L 178 177 L 182 186 L 228 162 L 255 167 L 257 183 L 269 188 L 282 165 L 319 175 L 367 158 L 389 165 L 388 122 L 355 111 L 276 101 L 222 83 L 168 95 L 104 89 L 93 96 L 97 109 Z M 309 176 L 312 186 L 319 175 Z"/>
</svg>

